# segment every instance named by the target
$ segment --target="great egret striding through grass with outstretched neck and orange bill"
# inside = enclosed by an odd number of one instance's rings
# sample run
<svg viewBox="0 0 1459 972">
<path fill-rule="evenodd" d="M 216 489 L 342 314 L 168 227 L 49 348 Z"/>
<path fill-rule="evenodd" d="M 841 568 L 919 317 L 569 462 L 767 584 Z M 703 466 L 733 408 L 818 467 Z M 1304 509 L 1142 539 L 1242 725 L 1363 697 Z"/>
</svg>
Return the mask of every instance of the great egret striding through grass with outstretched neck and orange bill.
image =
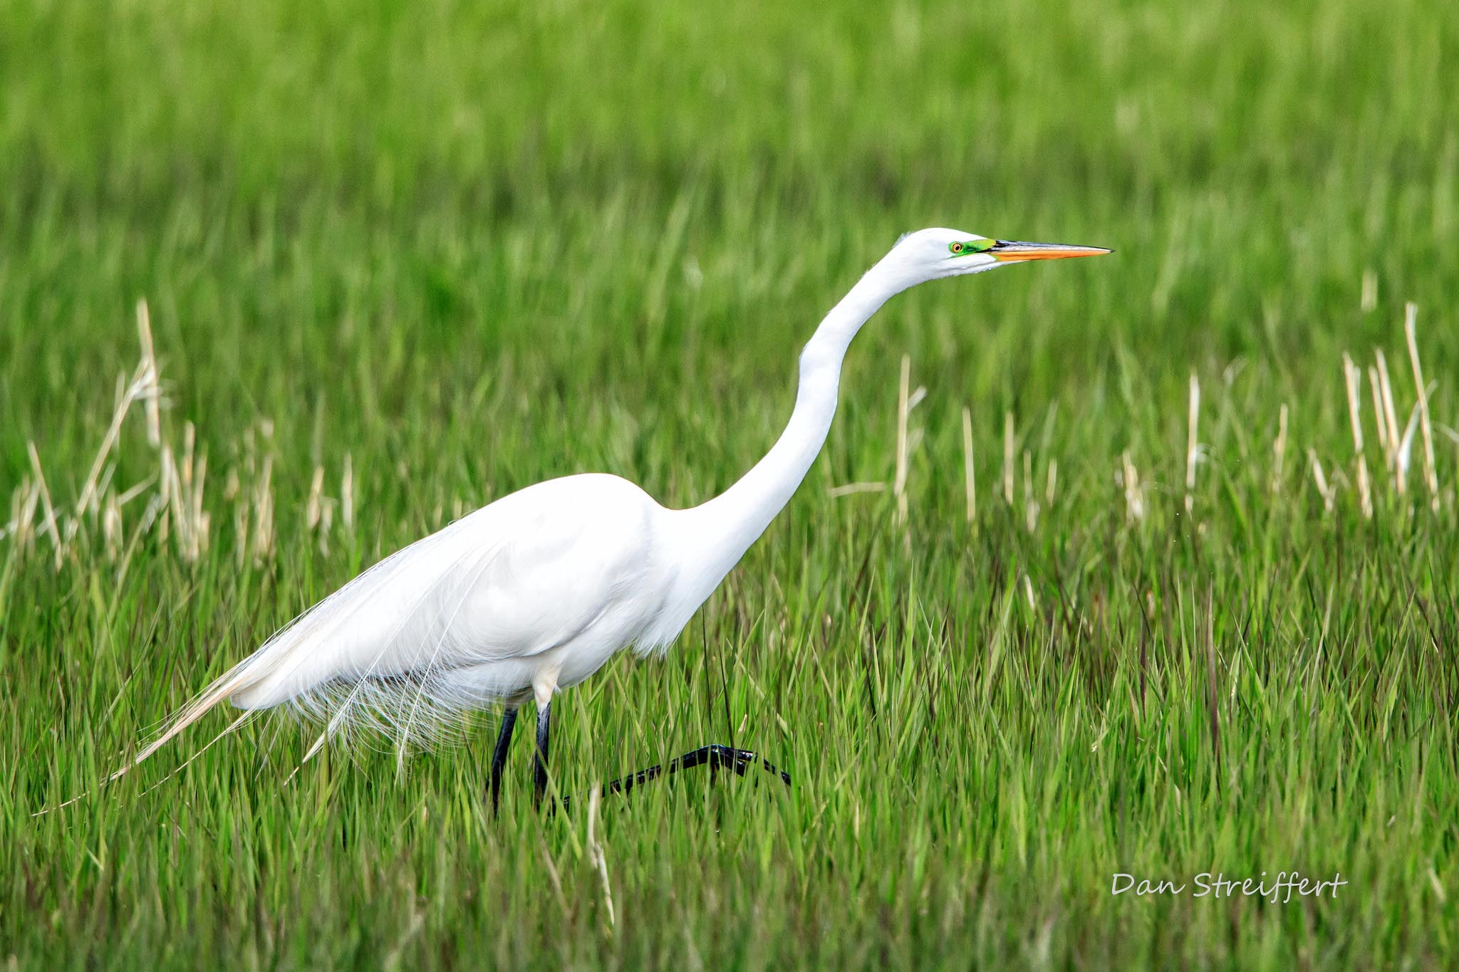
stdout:
<svg viewBox="0 0 1459 972">
<path fill-rule="evenodd" d="M 616 651 L 661 651 L 678 635 L 801 484 L 830 430 L 846 348 L 883 303 L 928 280 L 1107 252 L 950 229 L 903 236 L 811 335 L 785 431 L 724 494 L 670 510 L 627 479 L 582 474 L 502 497 L 306 611 L 175 713 L 111 778 L 223 699 L 245 713 L 220 734 L 252 711 L 283 704 L 322 717 L 305 761 L 360 723 L 392 732 L 404 753 L 407 742 L 463 711 L 500 701 L 506 708 L 490 769 L 495 809 L 516 708 L 533 698 L 540 803 L 553 694 L 587 679 Z M 743 772 L 751 759 L 706 746 L 670 771 L 709 762 Z"/>
</svg>

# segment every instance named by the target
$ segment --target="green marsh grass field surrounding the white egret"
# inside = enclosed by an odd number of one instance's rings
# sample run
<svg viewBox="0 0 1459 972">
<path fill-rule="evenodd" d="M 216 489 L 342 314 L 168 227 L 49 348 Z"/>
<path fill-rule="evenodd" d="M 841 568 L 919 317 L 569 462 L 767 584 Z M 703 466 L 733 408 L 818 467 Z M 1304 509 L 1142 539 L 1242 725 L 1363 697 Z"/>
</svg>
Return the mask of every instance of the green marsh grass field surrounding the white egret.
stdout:
<svg viewBox="0 0 1459 972">
<path fill-rule="evenodd" d="M 0 963 L 1452 962 L 1456 90 L 1420 0 L 0 6 Z M 940 224 L 1118 254 L 897 297 L 680 643 L 554 705 L 565 793 L 731 740 L 789 791 L 543 819 L 518 743 L 492 819 L 493 714 L 166 778 L 219 713 L 31 816 L 467 509 L 722 490 Z M 142 299 L 159 444 L 134 402 L 88 490 Z M 1110 893 L 1280 870 L 1348 885 Z"/>
</svg>

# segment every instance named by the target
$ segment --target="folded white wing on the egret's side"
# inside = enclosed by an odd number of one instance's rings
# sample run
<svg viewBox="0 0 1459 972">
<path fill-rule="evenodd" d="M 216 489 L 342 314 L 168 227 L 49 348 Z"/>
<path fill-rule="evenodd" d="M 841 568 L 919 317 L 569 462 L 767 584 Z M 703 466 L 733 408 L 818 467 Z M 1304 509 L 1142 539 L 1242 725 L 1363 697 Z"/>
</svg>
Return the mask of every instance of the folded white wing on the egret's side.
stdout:
<svg viewBox="0 0 1459 972">
<path fill-rule="evenodd" d="M 565 644 L 649 567 L 651 510 L 638 487 L 613 477 L 505 497 L 311 608 L 260 650 L 287 662 L 232 701 L 266 708 L 330 681 L 417 679 Z"/>
</svg>

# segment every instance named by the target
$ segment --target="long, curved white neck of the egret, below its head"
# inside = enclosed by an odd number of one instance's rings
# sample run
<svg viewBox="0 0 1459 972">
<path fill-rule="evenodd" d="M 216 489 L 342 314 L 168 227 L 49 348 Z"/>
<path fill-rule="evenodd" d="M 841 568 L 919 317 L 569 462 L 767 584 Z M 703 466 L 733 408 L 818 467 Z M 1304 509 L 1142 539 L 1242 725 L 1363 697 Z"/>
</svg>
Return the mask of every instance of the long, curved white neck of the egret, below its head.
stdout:
<svg viewBox="0 0 1459 972">
<path fill-rule="evenodd" d="M 836 415 L 840 366 L 851 340 L 871 315 L 910 283 L 889 261 L 872 267 L 837 303 L 801 351 L 795 411 L 775 446 L 744 477 L 708 503 L 683 510 L 687 590 L 694 606 L 740 563 L 785 507 L 826 443 Z"/>
</svg>

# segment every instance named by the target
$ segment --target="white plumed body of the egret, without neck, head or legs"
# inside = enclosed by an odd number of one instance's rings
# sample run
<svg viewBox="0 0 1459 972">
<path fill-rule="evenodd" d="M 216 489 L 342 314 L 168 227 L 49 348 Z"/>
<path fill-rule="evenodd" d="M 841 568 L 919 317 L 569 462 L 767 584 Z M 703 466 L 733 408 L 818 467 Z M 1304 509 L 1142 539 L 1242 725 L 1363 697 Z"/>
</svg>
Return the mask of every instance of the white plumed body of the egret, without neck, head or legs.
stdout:
<svg viewBox="0 0 1459 972">
<path fill-rule="evenodd" d="M 578 685 L 614 653 L 667 647 L 718 579 L 693 570 L 693 510 L 582 474 L 490 503 L 371 567 L 268 640 L 231 686 L 327 733 L 427 743 L 454 716 Z"/>
</svg>

